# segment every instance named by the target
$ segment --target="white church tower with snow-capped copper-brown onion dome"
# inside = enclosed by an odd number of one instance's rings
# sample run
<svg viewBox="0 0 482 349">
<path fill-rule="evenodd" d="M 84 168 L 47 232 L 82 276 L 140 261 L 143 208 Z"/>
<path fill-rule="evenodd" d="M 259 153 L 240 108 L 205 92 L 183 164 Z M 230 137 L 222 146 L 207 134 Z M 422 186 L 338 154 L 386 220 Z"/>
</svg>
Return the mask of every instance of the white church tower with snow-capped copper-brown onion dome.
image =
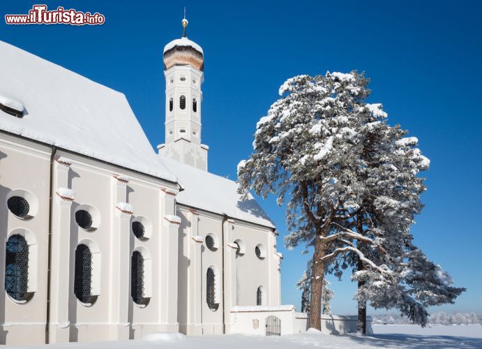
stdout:
<svg viewBox="0 0 482 349">
<path fill-rule="evenodd" d="M 165 144 L 160 155 L 201 170 L 207 170 L 209 147 L 201 144 L 201 84 L 204 81 L 204 52 L 186 36 L 188 20 L 182 20 L 183 36 L 165 45 L 166 80 Z"/>
</svg>

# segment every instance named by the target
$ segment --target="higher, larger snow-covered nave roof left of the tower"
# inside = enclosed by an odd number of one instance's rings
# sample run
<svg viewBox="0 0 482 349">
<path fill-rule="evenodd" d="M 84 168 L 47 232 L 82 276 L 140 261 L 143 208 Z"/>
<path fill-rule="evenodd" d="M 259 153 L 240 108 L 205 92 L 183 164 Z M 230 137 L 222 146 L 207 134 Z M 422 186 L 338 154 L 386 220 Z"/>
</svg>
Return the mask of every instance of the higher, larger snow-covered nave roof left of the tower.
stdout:
<svg viewBox="0 0 482 349">
<path fill-rule="evenodd" d="M 21 118 L 0 110 L 1 130 L 176 181 L 126 96 L 2 41 L 0 57 L 1 100 L 24 107 Z"/>
</svg>

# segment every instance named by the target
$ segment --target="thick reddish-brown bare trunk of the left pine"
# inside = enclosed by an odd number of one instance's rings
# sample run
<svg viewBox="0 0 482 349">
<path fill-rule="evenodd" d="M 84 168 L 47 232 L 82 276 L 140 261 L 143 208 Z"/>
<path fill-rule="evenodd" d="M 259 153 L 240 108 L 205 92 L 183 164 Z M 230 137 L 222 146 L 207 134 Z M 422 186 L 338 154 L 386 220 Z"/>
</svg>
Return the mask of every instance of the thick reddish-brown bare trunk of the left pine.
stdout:
<svg viewBox="0 0 482 349">
<path fill-rule="evenodd" d="M 324 262 L 320 259 L 324 255 L 324 242 L 319 239 L 315 241 L 315 253 L 313 254 L 313 267 L 311 274 L 311 297 L 310 297 L 310 327 L 322 330 L 322 286 L 324 280 Z"/>
</svg>

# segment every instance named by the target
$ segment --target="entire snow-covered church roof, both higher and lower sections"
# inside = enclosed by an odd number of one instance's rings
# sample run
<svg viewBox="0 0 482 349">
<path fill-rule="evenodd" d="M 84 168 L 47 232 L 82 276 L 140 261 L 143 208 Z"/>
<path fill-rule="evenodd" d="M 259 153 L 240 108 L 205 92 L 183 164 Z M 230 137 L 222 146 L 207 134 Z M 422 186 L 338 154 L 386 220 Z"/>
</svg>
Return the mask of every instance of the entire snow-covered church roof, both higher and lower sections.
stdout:
<svg viewBox="0 0 482 349">
<path fill-rule="evenodd" d="M 241 201 L 234 181 L 159 156 L 126 96 L 0 41 L 0 130 L 55 145 L 107 163 L 178 181 L 184 205 L 274 228 L 250 197 Z"/>
</svg>

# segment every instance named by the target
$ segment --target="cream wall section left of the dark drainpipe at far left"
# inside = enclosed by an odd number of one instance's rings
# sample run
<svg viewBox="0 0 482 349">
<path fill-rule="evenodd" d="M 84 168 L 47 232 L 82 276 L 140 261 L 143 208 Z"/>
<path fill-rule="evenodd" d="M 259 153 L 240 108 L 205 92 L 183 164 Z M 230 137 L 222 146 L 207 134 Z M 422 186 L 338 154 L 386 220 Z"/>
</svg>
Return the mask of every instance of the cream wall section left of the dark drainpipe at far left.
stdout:
<svg viewBox="0 0 482 349">
<path fill-rule="evenodd" d="M 43 343 L 45 340 L 49 163 L 50 147 L 0 135 L 0 343 Z M 38 207 L 31 218 L 17 218 L 7 209 L 8 197 L 20 191 L 35 198 L 29 198 L 31 209 L 33 205 Z M 29 258 L 29 267 L 35 267 L 34 270 L 29 268 L 29 290 L 33 297 L 22 304 L 4 291 L 3 275 L 7 239 L 18 233 L 24 235 L 24 232 L 30 235 L 27 243 L 35 244 L 29 246 L 29 251 L 35 248 L 37 253 Z M 26 333 L 29 335 L 25 336 Z"/>
</svg>

